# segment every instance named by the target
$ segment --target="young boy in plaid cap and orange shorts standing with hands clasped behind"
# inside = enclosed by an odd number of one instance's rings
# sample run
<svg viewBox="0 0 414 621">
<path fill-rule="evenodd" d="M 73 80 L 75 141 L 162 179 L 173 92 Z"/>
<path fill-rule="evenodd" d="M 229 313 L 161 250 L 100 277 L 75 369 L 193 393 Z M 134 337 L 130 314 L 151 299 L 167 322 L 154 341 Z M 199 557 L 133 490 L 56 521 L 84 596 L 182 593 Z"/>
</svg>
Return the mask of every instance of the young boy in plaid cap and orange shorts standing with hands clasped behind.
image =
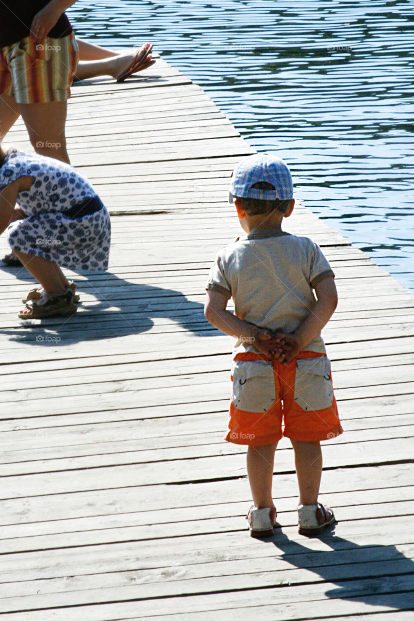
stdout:
<svg viewBox="0 0 414 621">
<path fill-rule="evenodd" d="M 314 242 L 281 229 L 295 204 L 283 160 L 266 153 L 242 160 L 233 171 L 229 201 L 247 237 L 216 256 L 205 305 L 206 319 L 237 338 L 225 438 L 248 446 L 252 537 L 273 533 L 274 455 L 282 435 L 290 438 L 299 533 L 315 535 L 335 521 L 333 511 L 318 502 L 320 440 L 342 433 L 321 338 L 338 302 L 334 273 Z M 234 314 L 226 310 L 230 297 Z"/>
</svg>

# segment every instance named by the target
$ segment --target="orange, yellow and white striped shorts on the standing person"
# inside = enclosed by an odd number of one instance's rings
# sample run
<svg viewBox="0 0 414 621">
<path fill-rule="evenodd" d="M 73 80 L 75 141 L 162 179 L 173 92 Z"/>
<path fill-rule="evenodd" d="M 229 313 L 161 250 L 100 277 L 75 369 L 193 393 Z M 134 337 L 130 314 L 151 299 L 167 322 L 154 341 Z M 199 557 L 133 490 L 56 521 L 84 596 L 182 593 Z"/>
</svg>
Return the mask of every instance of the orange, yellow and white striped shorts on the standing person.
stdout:
<svg viewBox="0 0 414 621">
<path fill-rule="evenodd" d="M 11 95 L 19 104 L 66 101 L 70 97 L 79 53 L 75 35 L 25 37 L 0 48 L 0 96 Z"/>
</svg>

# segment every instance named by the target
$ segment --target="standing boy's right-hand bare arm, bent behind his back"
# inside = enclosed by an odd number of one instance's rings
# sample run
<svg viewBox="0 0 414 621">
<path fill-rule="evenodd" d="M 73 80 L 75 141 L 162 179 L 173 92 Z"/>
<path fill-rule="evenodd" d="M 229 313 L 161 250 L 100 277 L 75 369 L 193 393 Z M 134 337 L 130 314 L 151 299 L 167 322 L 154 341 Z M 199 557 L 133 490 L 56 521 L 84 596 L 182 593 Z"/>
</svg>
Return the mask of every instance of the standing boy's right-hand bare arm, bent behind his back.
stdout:
<svg viewBox="0 0 414 621">
<path fill-rule="evenodd" d="M 315 286 L 318 301 L 305 321 L 292 334 L 277 333 L 283 351 L 275 357 L 284 365 L 290 363 L 328 323 L 338 304 L 338 294 L 333 276 L 324 278 Z"/>
</svg>

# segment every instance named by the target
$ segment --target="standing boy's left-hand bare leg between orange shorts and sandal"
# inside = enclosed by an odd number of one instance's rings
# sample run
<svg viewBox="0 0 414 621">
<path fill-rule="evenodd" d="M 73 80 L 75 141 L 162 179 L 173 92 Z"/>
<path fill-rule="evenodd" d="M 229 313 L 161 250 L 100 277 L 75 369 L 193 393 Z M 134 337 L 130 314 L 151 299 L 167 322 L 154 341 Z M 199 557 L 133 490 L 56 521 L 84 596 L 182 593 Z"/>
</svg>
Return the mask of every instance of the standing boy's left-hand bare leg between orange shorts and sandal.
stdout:
<svg viewBox="0 0 414 621">
<path fill-rule="evenodd" d="M 276 447 L 277 442 L 247 448 L 247 474 L 254 506 L 258 509 L 275 507 L 272 499 L 272 481 Z"/>
</svg>

